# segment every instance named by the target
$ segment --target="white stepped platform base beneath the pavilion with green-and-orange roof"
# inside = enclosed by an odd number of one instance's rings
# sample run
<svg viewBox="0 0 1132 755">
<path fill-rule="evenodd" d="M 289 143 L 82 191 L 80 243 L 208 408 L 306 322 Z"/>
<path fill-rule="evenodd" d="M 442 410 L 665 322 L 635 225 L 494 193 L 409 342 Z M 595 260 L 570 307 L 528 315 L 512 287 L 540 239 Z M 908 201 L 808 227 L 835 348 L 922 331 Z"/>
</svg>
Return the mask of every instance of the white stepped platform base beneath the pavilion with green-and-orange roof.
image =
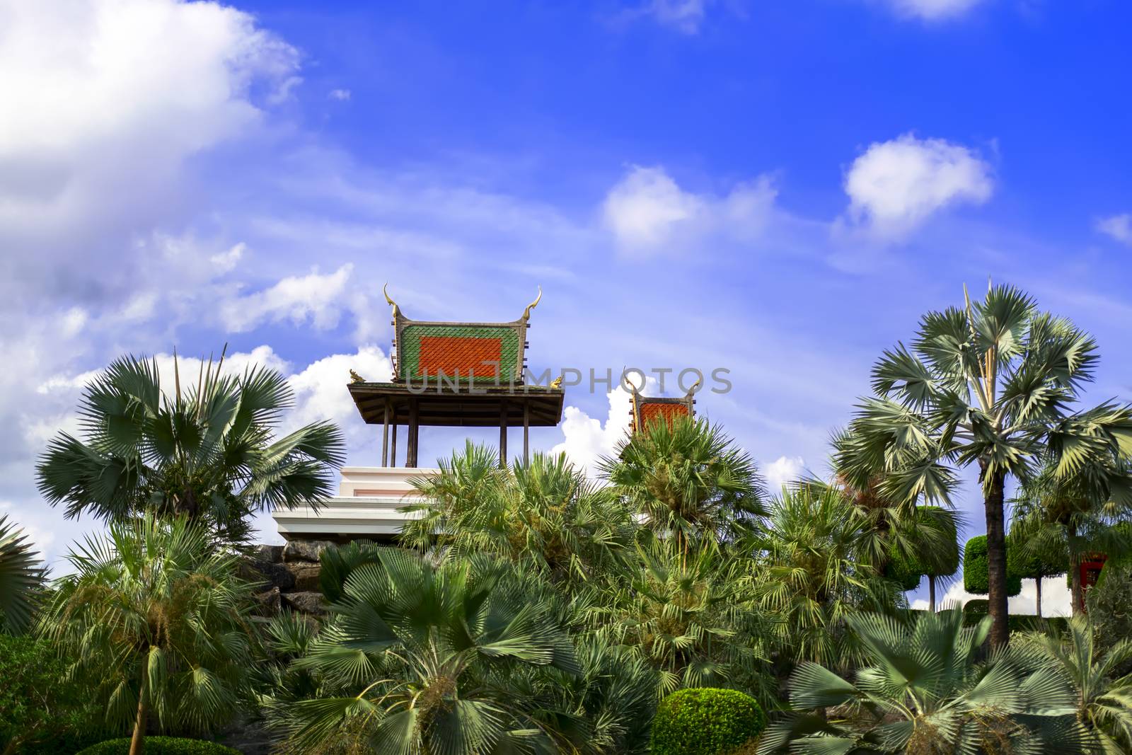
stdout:
<svg viewBox="0 0 1132 755">
<path fill-rule="evenodd" d="M 408 466 L 344 466 L 338 495 L 315 509 L 301 506 L 272 512 L 285 540 L 389 540 L 417 514 L 420 503 L 412 481 L 438 470 Z"/>
</svg>

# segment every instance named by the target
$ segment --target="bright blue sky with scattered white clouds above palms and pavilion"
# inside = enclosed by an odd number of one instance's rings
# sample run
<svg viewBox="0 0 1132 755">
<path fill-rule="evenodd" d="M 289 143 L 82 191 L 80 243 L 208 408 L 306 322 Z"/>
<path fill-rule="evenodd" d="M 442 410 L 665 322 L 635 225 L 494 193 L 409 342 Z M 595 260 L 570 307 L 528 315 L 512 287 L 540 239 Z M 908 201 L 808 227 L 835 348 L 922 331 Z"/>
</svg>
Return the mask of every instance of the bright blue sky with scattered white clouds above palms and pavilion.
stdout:
<svg viewBox="0 0 1132 755">
<path fill-rule="evenodd" d="M 513 319 L 541 285 L 537 369 L 729 368 L 698 409 L 778 475 L 823 473 L 881 350 L 988 276 L 1097 336 L 1090 400 L 1132 396 L 1126 3 L 0 0 L 0 506 L 51 559 L 95 523 L 37 500 L 34 457 L 123 352 L 229 342 L 293 375 L 289 421 L 336 419 L 376 462 L 342 384 L 387 369 L 385 282 L 421 319 Z M 583 388 L 535 435 L 580 463 L 623 421 Z"/>
</svg>

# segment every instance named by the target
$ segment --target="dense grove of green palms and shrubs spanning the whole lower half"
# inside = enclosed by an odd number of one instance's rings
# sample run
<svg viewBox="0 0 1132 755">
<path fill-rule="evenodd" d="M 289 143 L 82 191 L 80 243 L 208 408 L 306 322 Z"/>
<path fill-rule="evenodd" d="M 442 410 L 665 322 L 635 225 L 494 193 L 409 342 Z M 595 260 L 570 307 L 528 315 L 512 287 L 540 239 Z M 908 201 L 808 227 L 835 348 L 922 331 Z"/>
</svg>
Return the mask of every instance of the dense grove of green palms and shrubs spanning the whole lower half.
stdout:
<svg viewBox="0 0 1132 755">
<path fill-rule="evenodd" d="M 781 490 L 704 420 L 633 435 L 595 479 L 469 443 L 400 547 L 321 554 L 321 619 L 257 615 L 241 563 L 252 511 L 329 494 L 338 431 L 275 438 L 268 370 L 169 389 L 121 360 L 38 466 L 106 534 L 49 581 L 0 520 L 0 746 L 261 727 L 283 753 L 1130 752 L 1132 413 L 1078 405 L 1096 360 L 1013 289 L 932 312 L 876 364 L 830 478 Z M 968 465 L 987 535 L 962 554 Z M 988 615 L 935 610 L 961 558 Z M 1058 574 L 1073 618 L 1011 620 L 1012 581 Z M 721 717 L 749 728 L 712 740 Z"/>
</svg>

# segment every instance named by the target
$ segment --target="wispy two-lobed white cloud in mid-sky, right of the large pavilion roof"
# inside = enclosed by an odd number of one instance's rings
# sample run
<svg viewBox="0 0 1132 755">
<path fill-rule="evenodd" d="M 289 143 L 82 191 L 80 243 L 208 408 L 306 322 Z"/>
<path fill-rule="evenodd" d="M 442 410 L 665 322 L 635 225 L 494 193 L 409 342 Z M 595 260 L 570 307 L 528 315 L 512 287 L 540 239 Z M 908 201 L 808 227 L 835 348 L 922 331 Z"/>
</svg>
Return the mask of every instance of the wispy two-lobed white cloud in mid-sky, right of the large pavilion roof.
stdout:
<svg viewBox="0 0 1132 755">
<path fill-rule="evenodd" d="M 680 189 L 662 168 L 633 165 L 606 195 L 602 220 L 623 251 L 687 250 L 710 235 L 757 237 L 772 218 L 777 195 L 766 175 L 718 197 Z"/>
</svg>

